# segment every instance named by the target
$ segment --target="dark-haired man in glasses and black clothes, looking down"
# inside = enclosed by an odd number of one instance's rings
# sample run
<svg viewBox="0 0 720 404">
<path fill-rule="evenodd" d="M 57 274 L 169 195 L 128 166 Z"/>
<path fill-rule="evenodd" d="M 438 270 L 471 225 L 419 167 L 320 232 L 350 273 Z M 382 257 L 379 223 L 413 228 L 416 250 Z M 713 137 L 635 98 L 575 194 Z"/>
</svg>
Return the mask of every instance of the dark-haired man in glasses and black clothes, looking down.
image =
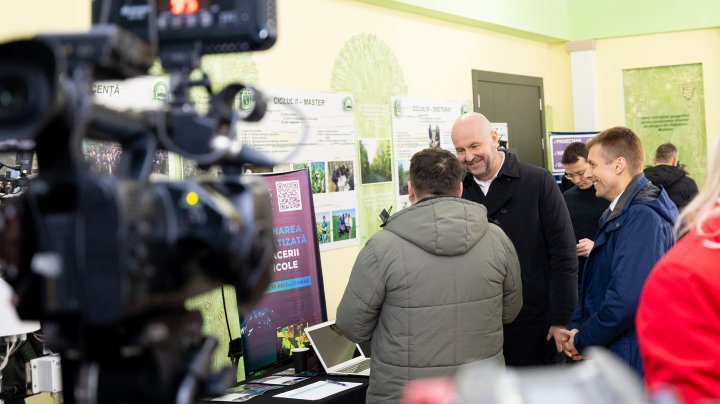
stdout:
<svg viewBox="0 0 720 404">
<path fill-rule="evenodd" d="M 570 211 L 570 221 L 575 231 L 579 264 L 578 280 L 582 279 L 585 261 L 595 244 L 595 233 L 598 231 L 600 216 L 610 206 L 610 201 L 595 196 L 592 181 L 583 176 L 587 168 L 587 154 L 584 143 L 574 142 L 565 148 L 560 160 L 565 168 L 565 178 L 575 185 L 563 192 L 563 198 Z"/>
</svg>

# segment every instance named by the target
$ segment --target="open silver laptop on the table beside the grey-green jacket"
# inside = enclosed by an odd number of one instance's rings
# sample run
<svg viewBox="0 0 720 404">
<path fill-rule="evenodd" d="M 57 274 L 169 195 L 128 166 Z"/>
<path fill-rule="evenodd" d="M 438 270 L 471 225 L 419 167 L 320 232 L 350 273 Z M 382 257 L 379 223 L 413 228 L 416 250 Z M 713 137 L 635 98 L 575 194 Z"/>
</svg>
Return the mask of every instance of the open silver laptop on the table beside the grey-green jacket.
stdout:
<svg viewBox="0 0 720 404">
<path fill-rule="evenodd" d="M 335 320 L 305 328 L 310 344 L 325 372 L 338 376 L 370 376 L 370 358 L 360 345 L 342 335 Z"/>
</svg>

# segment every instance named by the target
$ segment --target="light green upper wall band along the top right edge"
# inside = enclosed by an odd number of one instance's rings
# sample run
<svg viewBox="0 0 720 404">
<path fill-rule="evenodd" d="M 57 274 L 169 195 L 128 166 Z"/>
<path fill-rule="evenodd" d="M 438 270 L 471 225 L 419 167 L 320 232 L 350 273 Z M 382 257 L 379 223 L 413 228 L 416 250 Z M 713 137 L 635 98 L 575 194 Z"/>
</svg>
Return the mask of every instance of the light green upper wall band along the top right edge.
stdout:
<svg viewBox="0 0 720 404">
<path fill-rule="evenodd" d="M 720 26 L 718 0 L 359 0 L 547 43 Z"/>
</svg>

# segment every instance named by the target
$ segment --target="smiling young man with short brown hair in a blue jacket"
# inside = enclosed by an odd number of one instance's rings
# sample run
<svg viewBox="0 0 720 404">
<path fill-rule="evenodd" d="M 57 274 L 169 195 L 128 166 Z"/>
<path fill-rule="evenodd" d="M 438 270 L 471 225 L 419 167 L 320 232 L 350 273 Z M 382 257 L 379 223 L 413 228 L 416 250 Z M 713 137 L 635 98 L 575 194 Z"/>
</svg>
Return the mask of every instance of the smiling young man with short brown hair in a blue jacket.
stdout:
<svg viewBox="0 0 720 404">
<path fill-rule="evenodd" d="M 598 198 L 611 202 L 600 219 L 563 348 L 580 360 L 586 347 L 604 346 L 642 375 L 638 299 L 655 262 L 673 245 L 678 211 L 667 193 L 645 178 L 645 153 L 633 131 L 607 129 L 587 148 L 585 178 L 595 184 Z"/>
</svg>

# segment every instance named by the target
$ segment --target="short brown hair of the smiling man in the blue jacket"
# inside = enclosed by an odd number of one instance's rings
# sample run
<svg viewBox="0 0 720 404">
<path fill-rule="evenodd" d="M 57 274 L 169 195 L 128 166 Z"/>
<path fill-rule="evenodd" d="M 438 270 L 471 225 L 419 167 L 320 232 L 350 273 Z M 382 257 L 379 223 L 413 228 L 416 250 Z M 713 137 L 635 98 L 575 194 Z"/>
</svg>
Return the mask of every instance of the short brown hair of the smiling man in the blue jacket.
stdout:
<svg viewBox="0 0 720 404">
<path fill-rule="evenodd" d="M 642 142 L 629 128 L 616 126 L 605 129 L 592 138 L 586 148 L 590 150 L 595 145 L 602 146 L 606 163 L 623 157 L 633 175 L 640 174 L 645 166 L 645 151 Z"/>
</svg>

